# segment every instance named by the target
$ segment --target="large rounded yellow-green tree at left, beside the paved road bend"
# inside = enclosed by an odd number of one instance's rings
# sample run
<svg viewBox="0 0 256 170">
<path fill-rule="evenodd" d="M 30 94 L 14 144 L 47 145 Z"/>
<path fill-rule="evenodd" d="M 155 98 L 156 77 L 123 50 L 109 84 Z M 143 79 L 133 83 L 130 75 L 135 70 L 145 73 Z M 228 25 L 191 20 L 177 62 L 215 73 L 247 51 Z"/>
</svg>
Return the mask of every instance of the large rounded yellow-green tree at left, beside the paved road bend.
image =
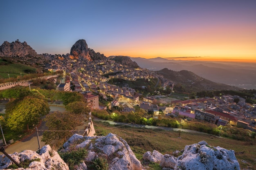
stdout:
<svg viewBox="0 0 256 170">
<path fill-rule="evenodd" d="M 12 109 L 7 109 L 7 126 L 11 130 L 29 130 L 29 127 L 38 124 L 43 115 L 49 113 L 48 103 L 43 99 L 27 96 L 23 100 L 15 102 Z"/>
</svg>

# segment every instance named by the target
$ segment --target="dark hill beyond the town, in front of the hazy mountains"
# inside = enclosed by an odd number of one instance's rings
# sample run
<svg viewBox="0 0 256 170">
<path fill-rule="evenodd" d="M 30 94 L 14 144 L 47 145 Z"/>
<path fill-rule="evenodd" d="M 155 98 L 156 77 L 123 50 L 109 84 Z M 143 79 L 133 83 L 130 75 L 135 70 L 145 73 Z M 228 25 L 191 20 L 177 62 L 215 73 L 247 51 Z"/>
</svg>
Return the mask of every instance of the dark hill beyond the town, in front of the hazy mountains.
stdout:
<svg viewBox="0 0 256 170">
<path fill-rule="evenodd" d="M 191 71 L 172 71 L 168 68 L 164 68 L 160 71 L 156 71 L 156 73 L 158 75 L 163 75 L 164 78 L 174 82 L 176 89 L 179 89 L 180 92 L 191 93 L 192 91 L 199 92 L 209 90 L 241 90 L 241 88 L 238 87 L 215 83 L 208 79 L 204 79 L 192 73 Z"/>
</svg>

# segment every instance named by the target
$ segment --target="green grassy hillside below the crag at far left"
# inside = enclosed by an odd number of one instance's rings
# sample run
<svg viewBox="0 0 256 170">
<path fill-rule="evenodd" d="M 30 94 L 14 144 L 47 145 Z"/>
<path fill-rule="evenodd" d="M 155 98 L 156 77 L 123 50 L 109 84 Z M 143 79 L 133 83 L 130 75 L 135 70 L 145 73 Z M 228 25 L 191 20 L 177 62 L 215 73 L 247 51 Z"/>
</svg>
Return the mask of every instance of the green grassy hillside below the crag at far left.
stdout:
<svg viewBox="0 0 256 170">
<path fill-rule="evenodd" d="M 3 59 L 0 59 L 0 78 L 3 79 L 7 79 L 10 77 L 17 77 L 20 75 L 20 73 L 22 75 L 26 75 L 28 73 L 26 73 L 26 71 L 31 70 L 31 73 L 36 73 L 36 68 L 34 67 L 30 67 L 30 66 L 26 66 L 23 64 L 15 64 L 15 63 L 9 63 L 7 64 L 7 62 Z M 9 74 L 9 76 L 8 76 Z"/>
</svg>

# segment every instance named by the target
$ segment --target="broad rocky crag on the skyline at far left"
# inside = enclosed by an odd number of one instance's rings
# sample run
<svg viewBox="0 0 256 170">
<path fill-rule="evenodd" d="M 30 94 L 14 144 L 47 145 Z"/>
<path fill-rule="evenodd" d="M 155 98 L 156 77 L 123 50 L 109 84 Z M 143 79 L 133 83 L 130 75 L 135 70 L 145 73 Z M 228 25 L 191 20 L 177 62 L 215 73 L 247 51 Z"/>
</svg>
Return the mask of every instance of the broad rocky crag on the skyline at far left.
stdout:
<svg viewBox="0 0 256 170">
<path fill-rule="evenodd" d="M 38 56 L 35 50 L 27 44 L 27 42 L 20 42 L 16 40 L 15 42 L 9 43 L 5 41 L 0 46 L 0 56 L 3 57 L 16 57 L 16 56 Z"/>
</svg>

